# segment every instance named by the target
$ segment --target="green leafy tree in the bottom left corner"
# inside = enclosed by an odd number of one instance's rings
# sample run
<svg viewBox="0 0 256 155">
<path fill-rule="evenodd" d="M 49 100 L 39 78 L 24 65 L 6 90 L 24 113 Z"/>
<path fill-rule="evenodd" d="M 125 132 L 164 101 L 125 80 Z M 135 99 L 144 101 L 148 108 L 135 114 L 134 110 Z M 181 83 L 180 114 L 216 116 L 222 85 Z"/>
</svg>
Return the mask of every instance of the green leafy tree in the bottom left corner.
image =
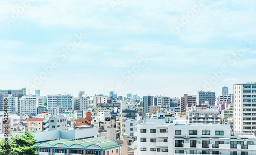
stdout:
<svg viewBox="0 0 256 155">
<path fill-rule="evenodd" d="M 8 140 L 7 144 L 5 141 L 0 141 L 0 155 L 33 155 L 38 147 L 34 147 L 37 139 L 35 136 L 26 131 L 24 134 L 19 136 L 12 136 Z"/>
</svg>

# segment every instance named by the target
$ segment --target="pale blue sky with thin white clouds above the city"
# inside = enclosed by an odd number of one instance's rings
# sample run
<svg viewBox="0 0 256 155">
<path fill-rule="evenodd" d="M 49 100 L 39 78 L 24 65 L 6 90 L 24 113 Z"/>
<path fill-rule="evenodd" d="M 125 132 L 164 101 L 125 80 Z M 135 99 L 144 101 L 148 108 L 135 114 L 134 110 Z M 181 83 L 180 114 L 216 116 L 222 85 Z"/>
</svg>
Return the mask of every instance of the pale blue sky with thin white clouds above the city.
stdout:
<svg viewBox="0 0 256 155">
<path fill-rule="evenodd" d="M 256 1 L 0 2 L 0 89 L 165 95 L 256 81 Z M 28 91 L 29 92 L 29 91 Z"/>
</svg>

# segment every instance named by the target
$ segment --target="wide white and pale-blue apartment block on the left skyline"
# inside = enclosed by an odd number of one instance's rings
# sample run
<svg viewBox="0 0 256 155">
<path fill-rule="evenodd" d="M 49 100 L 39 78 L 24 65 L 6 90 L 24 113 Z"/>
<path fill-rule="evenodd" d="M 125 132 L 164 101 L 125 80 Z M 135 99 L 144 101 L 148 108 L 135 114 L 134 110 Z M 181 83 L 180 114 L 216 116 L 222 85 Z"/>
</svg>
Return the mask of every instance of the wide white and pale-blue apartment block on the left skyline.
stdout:
<svg viewBox="0 0 256 155">
<path fill-rule="evenodd" d="M 62 107 L 67 110 L 74 110 L 74 96 L 67 95 L 48 95 L 47 96 L 47 108 L 48 110 Z"/>
</svg>

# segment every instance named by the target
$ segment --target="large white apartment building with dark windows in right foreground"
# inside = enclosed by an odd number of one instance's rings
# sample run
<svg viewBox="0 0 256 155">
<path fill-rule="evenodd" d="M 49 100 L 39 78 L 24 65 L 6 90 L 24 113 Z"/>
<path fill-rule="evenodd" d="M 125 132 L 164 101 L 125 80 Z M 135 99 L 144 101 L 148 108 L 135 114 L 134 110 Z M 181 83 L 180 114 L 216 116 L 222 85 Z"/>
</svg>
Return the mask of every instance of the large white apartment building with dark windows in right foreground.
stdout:
<svg viewBox="0 0 256 155">
<path fill-rule="evenodd" d="M 135 154 L 256 154 L 254 135 L 232 135 L 229 125 L 138 124 Z"/>
</svg>

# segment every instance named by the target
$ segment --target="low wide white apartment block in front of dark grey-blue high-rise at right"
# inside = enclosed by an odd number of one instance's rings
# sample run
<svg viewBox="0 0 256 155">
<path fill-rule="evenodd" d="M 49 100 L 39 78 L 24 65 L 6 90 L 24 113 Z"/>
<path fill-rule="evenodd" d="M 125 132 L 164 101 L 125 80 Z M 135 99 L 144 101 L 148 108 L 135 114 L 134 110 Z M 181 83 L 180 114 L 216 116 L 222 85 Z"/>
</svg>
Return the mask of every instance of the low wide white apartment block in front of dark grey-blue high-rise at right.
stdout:
<svg viewBox="0 0 256 155">
<path fill-rule="evenodd" d="M 192 109 L 188 111 L 189 123 L 203 123 L 203 124 L 220 124 L 220 111 L 215 109 Z"/>
</svg>

